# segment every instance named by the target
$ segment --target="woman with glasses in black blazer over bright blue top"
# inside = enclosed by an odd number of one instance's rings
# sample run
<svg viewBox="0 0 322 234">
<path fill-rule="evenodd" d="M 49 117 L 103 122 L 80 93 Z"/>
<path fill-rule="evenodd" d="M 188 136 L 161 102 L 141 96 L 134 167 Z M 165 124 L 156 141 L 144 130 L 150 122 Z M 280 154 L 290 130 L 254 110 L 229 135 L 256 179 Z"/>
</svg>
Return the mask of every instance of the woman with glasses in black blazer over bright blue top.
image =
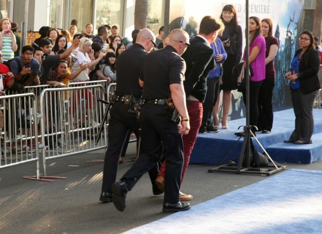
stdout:
<svg viewBox="0 0 322 234">
<path fill-rule="evenodd" d="M 313 104 L 320 87 L 318 72 L 320 54 L 314 48 L 313 34 L 301 33 L 300 49 L 295 52 L 291 69 L 285 74 L 291 83 L 291 96 L 295 114 L 295 129 L 285 143 L 311 144 L 314 129 Z"/>
</svg>

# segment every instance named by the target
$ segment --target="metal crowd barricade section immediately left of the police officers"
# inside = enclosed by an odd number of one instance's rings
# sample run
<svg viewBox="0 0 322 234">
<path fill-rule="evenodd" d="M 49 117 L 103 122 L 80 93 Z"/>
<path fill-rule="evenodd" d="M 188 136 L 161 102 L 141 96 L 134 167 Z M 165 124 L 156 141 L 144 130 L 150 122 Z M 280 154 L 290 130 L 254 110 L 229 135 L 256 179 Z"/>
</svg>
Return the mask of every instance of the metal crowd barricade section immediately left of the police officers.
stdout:
<svg viewBox="0 0 322 234">
<path fill-rule="evenodd" d="M 95 144 L 105 105 L 102 85 L 44 89 L 40 95 L 40 127 L 44 176 L 47 160 L 107 146 L 107 129 Z M 52 178 L 52 177 L 51 177 Z"/>
</svg>

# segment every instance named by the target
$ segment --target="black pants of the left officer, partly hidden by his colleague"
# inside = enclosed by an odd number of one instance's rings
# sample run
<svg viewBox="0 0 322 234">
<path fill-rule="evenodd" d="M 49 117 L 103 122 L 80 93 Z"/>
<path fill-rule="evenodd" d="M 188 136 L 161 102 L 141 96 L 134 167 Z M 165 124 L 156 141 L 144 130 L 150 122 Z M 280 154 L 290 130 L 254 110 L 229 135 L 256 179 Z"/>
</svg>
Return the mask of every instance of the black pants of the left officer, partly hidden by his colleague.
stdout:
<svg viewBox="0 0 322 234">
<path fill-rule="evenodd" d="M 122 148 L 127 147 L 126 140 L 128 140 L 128 132 L 134 132 L 137 139 L 139 138 L 140 124 L 136 120 L 135 113 L 129 112 L 130 109 L 133 110 L 133 106 L 134 104 L 128 107 L 123 102 L 116 101 L 110 109 L 107 129 L 108 146 L 104 160 L 102 192 L 111 193 L 112 184 L 116 180 L 119 156 Z M 154 187 L 156 187 L 155 180 L 157 179 L 158 173 L 159 165 L 157 162 L 149 171 L 151 183 Z"/>
</svg>

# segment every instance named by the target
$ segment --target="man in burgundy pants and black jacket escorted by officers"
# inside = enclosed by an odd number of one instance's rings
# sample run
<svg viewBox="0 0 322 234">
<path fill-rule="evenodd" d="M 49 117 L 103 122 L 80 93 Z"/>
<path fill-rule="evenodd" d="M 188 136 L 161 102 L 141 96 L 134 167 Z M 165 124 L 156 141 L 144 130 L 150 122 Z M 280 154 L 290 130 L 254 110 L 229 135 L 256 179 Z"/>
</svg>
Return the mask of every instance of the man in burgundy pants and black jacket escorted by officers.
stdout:
<svg viewBox="0 0 322 234">
<path fill-rule="evenodd" d="M 187 70 L 185 72 L 184 90 L 187 96 L 187 109 L 190 117 L 190 132 L 182 136 L 184 164 L 182 177 L 187 170 L 190 154 L 197 140 L 199 128 L 203 115 L 203 102 L 207 92 L 207 77 L 209 72 L 215 68 L 214 50 L 210 44 L 214 42 L 218 34 L 220 24 L 218 19 L 212 16 L 205 16 L 200 23 L 199 34 L 191 40 L 190 46 L 182 54 L 186 61 Z M 160 189 L 164 187 L 165 163 L 162 164 L 161 171 L 157 177 L 156 184 Z M 180 192 L 180 201 L 189 201 L 193 198 L 190 194 Z"/>
</svg>

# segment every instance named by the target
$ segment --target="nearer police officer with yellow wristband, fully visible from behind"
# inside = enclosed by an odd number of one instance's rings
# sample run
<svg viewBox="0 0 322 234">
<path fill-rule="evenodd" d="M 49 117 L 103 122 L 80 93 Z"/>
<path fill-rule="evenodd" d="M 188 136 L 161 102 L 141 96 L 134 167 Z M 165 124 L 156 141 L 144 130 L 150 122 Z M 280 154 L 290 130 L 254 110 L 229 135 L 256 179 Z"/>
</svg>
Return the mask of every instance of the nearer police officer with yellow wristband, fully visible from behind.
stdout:
<svg viewBox="0 0 322 234">
<path fill-rule="evenodd" d="M 190 130 L 189 116 L 183 88 L 186 65 L 180 55 L 185 51 L 189 35 L 175 29 L 170 33 L 169 45 L 147 55 L 140 75 L 143 86 L 143 106 L 140 114 L 141 154 L 133 167 L 113 184 L 113 203 L 119 211 L 125 208 L 125 196 L 140 177 L 151 170 L 160 159 L 162 150 L 166 161 L 163 212 L 190 209 L 189 203 L 179 201 L 183 165 L 181 135 Z M 171 99 L 172 98 L 172 99 Z M 172 118 L 176 108 L 181 127 Z"/>
</svg>

